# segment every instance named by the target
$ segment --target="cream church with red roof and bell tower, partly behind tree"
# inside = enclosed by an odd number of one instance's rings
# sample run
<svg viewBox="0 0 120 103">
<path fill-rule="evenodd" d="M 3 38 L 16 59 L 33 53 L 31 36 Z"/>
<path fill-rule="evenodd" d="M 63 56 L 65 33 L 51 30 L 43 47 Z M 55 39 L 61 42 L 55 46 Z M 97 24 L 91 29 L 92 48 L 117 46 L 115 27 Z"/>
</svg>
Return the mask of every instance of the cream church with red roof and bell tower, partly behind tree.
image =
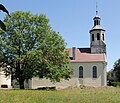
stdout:
<svg viewBox="0 0 120 103">
<path fill-rule="evenodd" d="M 34 77 L 29 82 L 29 88 L 40 87 L 66 88 L 69 86 L 106 86 L 106 42 L 105 29 L 100 24 L 100 16 L 96 10 L 94 25 L 89 31 L 90 48 L 67 48 L 71 58 L 70 67 L 74 73 L 70 80 L 53 84 L 47 79 Z"/>
</svg>

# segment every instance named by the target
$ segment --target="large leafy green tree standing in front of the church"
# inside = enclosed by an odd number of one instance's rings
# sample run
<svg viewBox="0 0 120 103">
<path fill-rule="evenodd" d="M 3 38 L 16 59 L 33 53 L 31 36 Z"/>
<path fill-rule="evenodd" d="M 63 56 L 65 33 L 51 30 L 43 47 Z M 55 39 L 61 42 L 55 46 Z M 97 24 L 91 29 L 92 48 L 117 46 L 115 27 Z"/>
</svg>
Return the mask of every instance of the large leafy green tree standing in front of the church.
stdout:
<svg viewBox="0 0 120 103">
<path fill-rule="evenodd" d="M 17 11 L 4 19 L 7 32 L 0 31 L 0 58 L 6 75 L 24 81 L 33 76 L 46 77 L 54 82 L 69 79 L 69 55 L 66 43 L 52 30 L 45 15 Z"/>
</svg>

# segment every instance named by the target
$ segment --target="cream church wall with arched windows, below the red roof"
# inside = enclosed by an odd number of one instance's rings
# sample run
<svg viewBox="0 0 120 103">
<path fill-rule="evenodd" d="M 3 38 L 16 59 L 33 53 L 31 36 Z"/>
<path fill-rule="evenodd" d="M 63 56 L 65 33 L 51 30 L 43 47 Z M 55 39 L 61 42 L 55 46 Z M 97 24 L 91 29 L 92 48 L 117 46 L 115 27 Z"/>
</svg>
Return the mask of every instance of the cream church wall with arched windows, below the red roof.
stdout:
<svg viewBox="0 0 120 103">
<path fill-rule="evenodd" d="M 56 88 L 66 88 L 69 86 L 105 86 L 104 79 L 104 64 L 102 62 L 94 63 L 71 63 L 71 68 L 74 73 L 70 80 L 62 80 L 58 83 L 52 83 L 50 80 L 45 78 L 34 77 L 29 81 L 29 87 L 32 89 L 37 89 L 40 87 L 56 87 Z M 79 78 L 79 67 L 83 66 L 83 78 Z M 92 77 L 92 68 L 97 67 L 97 78 Z"/>
</svg>

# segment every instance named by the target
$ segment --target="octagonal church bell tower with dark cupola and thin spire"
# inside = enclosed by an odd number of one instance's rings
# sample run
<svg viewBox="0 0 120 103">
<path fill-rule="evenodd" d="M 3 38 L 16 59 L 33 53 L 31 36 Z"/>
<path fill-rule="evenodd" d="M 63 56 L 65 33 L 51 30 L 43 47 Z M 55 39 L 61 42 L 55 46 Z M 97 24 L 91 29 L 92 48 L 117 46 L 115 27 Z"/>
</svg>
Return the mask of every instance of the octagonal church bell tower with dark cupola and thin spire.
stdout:
<svg viewBox="0 0 120 103">
<path fill-rule="evenodd" d="M 91 53 L 106 53 L 105 29 L 100 24 L 100 16 L 96 5 L 96 16 L 93 18 L 94 25 L 89 31 Z"/>
</svg>

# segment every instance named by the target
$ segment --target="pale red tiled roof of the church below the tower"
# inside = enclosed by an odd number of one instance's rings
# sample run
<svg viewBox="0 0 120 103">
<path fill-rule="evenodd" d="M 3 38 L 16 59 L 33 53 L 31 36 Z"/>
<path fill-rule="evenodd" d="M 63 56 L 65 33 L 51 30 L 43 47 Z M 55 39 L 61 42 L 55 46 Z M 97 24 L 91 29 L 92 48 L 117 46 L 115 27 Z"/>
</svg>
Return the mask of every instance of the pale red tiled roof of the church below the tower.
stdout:
<svg viewBox="0 0 120 103">
<path fill-rule="evenodd" d="M 67 48 L 70 57 L 72 57 L 72 48 Z M 78 48 L 75 49 L 75 60 L 71 62 L 105 62 L 106 56 L 102 54 L 81 53 Z"/>
</svg>

